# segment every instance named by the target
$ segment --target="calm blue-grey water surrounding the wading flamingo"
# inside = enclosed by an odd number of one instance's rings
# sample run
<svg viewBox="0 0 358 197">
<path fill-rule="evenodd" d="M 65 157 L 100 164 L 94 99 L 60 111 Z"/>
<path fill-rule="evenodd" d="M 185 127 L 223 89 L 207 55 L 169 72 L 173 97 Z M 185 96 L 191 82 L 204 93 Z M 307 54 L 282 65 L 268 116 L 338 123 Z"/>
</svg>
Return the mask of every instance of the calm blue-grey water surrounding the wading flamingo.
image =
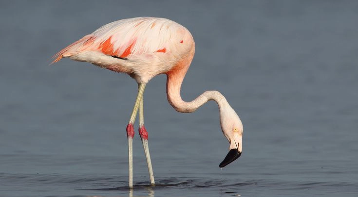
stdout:
<svg viewBox="0 0 358 197">
<path fill-rule="evenodd" d="M 357 196 L 357 1 L 0 1 L 0 196 Z M 165 76 L 145 92 L 157 186 L 139 135 L 127 185 L 136 83 L 58 50 L 108 22 L 161 16 L 186 26 L 196 55 L 182 87 L 219 90 L 244 123 L 222 170 L 218 109 L 175 112 Z"/>
</svg>

